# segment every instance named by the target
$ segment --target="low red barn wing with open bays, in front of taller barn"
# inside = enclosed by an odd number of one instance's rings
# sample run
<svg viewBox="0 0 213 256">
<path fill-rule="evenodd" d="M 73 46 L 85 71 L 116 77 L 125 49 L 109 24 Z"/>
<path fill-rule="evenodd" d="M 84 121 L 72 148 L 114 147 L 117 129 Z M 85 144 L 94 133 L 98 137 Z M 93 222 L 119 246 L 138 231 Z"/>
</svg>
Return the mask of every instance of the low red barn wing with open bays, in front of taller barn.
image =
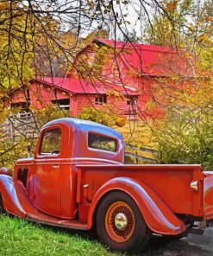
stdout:
<svg viewBox="0 0 213 256">
<path fill-rule="evenodd" d="M 10 97 L 11 108 L 21 107 L 28 112 L 29 106 L 40 110 L 50 104 L 70 110 L 72 117 L 82 112 L 84 107 L 101 109 L 110 106 L 119 115 L 136 112 L 132 101 L 138 93 L 134 89 L 116 85 L 93 86 L 86 80 L 76 78 L 43 77 L 28 82 Z"/>
</svg>

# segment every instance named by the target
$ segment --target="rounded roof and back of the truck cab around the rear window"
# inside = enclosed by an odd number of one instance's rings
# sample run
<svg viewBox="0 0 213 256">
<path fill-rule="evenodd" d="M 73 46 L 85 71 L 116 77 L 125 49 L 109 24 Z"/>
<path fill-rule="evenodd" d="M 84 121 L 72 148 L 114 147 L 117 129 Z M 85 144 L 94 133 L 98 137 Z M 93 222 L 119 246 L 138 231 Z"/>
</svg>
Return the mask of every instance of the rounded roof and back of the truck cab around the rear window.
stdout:
<svg viewBox="0 0 213 256">
<path fill-rule="evenodd" d="M 59 118 L 50 121 L 43 126 L 43 129 L 51 125 L 62 125 L 66 134 L 66 149 L 63 151 L 63 157 L 87 157 L 91 159 L 103 159 L 109 163 L 123 163 L 124 162 L 124 143 L 122 134 L 114 129 L 100 125 L 91 121 L 82 120 L 78 118 Z M 72 131 L 72 132 L 69 132 Z M 91 134 L 97 134 L 98 136 L 112 138 L 115 141 L 116 150 L 103 150 L 98 148 L 97 145 L 89 146 L 89 138 Z M 95 135 L 96 136 L 96 135 Z M 92 140 L 97 139 L 97 144 L 100 145 L 99 138 L 91 138 Z M 112 141 L 113 141 L 112 140 Z M 112 145 L 113 147 L 113 145 Z"/>
</svg>

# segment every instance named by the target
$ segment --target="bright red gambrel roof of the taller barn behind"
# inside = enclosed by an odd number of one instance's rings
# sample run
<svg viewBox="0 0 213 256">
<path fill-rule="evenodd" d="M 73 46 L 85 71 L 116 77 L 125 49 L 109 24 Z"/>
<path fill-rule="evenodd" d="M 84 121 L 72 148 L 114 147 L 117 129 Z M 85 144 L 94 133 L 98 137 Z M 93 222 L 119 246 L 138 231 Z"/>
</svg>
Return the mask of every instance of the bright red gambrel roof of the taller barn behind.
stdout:
<svg viewBox="0 0 213 256">
<path fill-rule="evenodd" d="M 117 55 L 128 68 L 137 75 L 168 77 L 172 75 L 191 76 L 191 63 L 184 52 L 177 48 L 146 45 L 133 42 L 117 42 L 109 39 L 96 38 L 93 43 L 103 44 L 117 49 Z M 84 49 L 85 49 L 84 48 Z M 78 55 L 84 51 L 82 49 Z"/>
</svg>

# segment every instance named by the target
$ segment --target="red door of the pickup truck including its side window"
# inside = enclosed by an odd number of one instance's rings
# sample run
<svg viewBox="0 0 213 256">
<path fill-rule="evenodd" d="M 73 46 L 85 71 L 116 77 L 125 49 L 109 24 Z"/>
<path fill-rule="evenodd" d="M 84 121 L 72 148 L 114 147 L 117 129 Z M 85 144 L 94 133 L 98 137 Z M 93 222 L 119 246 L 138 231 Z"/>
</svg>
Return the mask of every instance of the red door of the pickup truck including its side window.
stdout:
<svg viewBox="0 0 213 256">
<path fill-rule="evenodd" d="M 52 125 L 41 132 L 34 156 L 30 198 L 46 214 L 60 216 L 62 128 Z"/>
</svg>

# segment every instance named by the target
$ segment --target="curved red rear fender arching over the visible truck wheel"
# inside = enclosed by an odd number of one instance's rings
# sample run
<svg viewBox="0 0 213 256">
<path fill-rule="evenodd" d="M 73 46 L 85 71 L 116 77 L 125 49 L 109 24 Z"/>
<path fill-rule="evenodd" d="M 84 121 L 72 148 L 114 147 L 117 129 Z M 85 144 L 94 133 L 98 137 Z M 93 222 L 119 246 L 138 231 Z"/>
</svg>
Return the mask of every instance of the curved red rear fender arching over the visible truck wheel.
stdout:
<svg viewBox="0 0 213 256">
<path fill-rule="evenodd" d="M 120 190 L 127 193 L 141 210 L 141 215 L 153 233 L 175 235 L 185 232 L 185 224 L 172 213 L 153 189 L 144 182 L 139 182 L 128 177 L 116 177 L 97 190 L 94 195 L 88 214 L 88 227 L 91 228 L 93 216 L 98 203 L 107 193 Z"/>
</svg>

